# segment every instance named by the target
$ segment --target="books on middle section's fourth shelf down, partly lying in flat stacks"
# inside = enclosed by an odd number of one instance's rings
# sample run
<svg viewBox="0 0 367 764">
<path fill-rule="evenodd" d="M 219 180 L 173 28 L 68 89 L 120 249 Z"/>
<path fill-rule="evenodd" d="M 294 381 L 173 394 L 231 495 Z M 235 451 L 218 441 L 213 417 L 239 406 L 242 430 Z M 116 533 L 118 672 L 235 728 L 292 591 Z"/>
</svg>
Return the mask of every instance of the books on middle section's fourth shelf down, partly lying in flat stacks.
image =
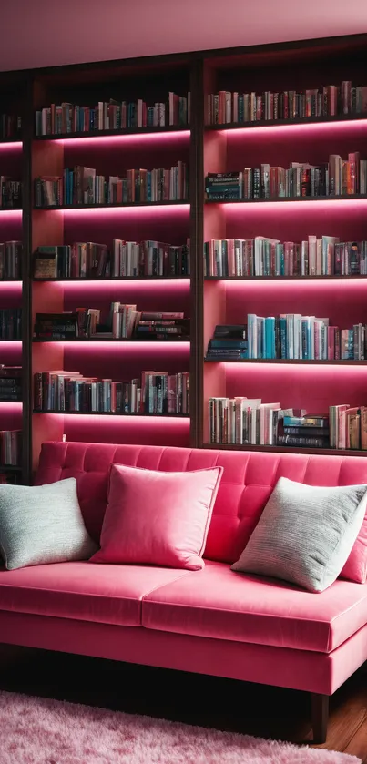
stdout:
<svg viewBox="0 0 367 764">
<path fill-rule="evenodd" d="M 109 316 L 101 321 L 97 308 L 77 308 L 63 313 L 36 313 L 35 337 L 39 340 L 189 340 L 189 319 L 183 312 L 138 311 L 137 305 L 112 302 Z"/>
</svg>

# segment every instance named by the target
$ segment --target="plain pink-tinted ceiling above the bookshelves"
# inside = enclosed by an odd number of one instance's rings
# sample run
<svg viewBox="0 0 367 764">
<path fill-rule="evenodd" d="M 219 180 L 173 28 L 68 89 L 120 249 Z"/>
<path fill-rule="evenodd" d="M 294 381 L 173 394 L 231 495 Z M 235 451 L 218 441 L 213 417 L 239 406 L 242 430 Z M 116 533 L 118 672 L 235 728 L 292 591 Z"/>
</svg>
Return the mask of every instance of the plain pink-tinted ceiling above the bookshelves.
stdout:
<svg viewBox="0 0 367 764">
<path fill-rule="evenodd" d="M 0 70 L 367 31 L 366 0 L 3 0 Z"/>
</svg>

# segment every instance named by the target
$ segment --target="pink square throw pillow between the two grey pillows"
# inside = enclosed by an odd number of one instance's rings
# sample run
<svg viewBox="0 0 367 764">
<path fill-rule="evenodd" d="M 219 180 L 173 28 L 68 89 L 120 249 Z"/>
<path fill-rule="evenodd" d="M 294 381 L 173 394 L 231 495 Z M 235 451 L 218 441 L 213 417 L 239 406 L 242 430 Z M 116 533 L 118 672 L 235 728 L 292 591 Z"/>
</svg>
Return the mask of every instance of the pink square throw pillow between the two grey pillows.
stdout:
<svg viewBox="0 0 367 764">
<path fill-rule="evenodd" d="M 164 473 L 112 464 L 101 548 L 93 563 L 199 570 L 222 467 Z"/>
</svg>

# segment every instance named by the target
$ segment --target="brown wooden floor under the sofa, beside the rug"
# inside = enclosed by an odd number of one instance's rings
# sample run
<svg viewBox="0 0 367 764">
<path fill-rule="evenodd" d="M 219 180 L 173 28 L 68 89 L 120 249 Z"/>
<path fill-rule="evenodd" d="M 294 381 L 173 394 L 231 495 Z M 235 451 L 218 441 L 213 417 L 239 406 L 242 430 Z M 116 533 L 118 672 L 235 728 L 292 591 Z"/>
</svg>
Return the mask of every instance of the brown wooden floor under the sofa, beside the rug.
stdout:
<svg viewBox="0 0 367 764">
<path fill-rule="evenodd" d="M 38 650 L 0 653 L 0 690 L 311 743 L 306 693 Z M 328 739 L 367 764 L 367 665 L 331 698 Z"/>
</svg>

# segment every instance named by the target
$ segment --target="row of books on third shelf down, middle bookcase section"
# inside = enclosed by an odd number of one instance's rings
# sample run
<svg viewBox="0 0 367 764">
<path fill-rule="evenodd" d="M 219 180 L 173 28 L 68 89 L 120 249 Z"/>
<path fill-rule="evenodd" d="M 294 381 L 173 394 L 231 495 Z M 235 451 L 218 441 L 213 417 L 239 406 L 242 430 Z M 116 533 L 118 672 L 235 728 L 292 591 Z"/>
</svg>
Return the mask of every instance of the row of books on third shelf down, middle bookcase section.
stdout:
<svg viewBox="0 0 367 764">
<path fill-rule="evenodd" d="M 1 255 L 1 245 L 0 245 Z M 160 241 L 114 239 L 112 249 L 93 241 L 38 247 L 35 279 L 134 278 L 189 276 L 190 248 Z"/>
</svg>

